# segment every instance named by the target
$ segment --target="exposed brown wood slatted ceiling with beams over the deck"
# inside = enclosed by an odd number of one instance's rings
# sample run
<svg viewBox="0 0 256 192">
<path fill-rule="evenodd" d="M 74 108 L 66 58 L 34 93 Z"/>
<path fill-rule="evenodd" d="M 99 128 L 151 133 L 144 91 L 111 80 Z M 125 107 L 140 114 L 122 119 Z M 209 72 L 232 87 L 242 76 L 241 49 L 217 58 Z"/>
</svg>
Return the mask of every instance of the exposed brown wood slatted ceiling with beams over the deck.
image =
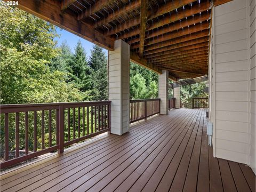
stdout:
<svg viewBox="0 0 256 192">
<path fill-rule="evenodd" d="M 169 77 L 208 74 L 212 6 L 230 0 L 19 0 L 18 7 L 107 50 L 123 39 L 131 60 Z"/>
</svg>

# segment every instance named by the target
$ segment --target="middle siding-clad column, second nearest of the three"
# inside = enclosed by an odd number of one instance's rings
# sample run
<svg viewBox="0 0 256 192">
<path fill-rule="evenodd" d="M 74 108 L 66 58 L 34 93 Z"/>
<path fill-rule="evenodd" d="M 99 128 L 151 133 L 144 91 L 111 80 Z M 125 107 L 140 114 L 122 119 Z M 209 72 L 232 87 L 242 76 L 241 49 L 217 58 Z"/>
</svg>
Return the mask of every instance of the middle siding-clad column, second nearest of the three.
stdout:
<svg viewBox="0 0 256 192">
<path fill-rule="evenodd" d="M 163 74 L 158 75 L 158 98 L 160 101 L 160 114 L 168 114 L 168 78 L 169 73 L 167 70 L 162 70 Z"/>
</svg>

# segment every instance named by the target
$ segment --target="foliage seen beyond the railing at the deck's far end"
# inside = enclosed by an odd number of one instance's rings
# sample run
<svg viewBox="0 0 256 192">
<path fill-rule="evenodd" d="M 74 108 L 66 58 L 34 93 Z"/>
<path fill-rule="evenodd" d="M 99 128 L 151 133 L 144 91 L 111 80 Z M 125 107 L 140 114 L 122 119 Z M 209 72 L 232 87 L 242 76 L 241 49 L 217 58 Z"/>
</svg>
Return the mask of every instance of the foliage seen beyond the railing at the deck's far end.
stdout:
<svg viewBox="0 0 256 192">
<path fill-rule="evenodd" d="M 195 97 L 208 97 L 208 93 L 203 92 L 205 87 L 207 87 L 206 82 L 181 86 L 180 93 L 183 108 L 192 108 L 192 99 Z"/>
</svg>

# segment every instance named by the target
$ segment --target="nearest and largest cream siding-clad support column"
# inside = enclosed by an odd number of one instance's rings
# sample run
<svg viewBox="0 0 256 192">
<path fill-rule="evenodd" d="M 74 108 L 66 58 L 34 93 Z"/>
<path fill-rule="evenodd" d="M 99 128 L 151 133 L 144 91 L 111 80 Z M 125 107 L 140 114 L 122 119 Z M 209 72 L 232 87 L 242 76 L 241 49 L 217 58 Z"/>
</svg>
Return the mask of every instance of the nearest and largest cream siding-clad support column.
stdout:
<svg viewBox="0 0 256 192">
<path fill-rule="evenodd" d="M 108 100 L 111 101 L 111 133 L 122 135 L 130 125 L 130 45 L 115 41 L 108 52 Z"/>
</svg>

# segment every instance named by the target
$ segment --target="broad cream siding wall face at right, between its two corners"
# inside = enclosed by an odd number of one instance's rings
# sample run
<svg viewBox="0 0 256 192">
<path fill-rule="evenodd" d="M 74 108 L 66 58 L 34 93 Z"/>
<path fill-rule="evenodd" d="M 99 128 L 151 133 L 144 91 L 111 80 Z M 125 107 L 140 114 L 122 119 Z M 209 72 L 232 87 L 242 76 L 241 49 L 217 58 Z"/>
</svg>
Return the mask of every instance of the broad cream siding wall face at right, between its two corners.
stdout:
<svg viewBox="0 0 256 192">
<path fill-rule="evenodd" d="M 215 7 L 211 42 L 214 154 L 248 163 L 249 71 L 247 0 Z"/>
</svg>

